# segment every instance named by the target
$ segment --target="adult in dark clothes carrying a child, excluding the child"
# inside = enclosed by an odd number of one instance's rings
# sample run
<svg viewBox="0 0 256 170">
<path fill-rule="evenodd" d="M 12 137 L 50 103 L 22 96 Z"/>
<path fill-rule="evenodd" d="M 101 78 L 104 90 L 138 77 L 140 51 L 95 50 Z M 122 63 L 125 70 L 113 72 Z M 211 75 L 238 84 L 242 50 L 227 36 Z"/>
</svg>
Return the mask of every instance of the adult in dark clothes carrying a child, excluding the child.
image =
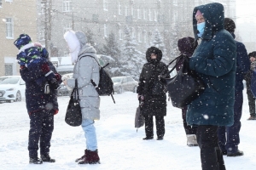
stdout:
<svg viewBox="0 0 256 170">
<path fill-rule="evenodd" d="M 48 54 L 45 57 L 48 58 Z M 32 70 L 20 65 L 20 76 L 26 82 L 26 110 L 30 118 L 28 136 L 29 163 L 33 164 L 41 164 L 43 161 L 55 162 L 55 159 L 49 156 L 49 147 L 54 130 L 54 115 L 58 113 L 59 109 L 55 85 L 49 84 L 49 89 L 47 90 L 45 90 L 44 86 L 49 81 L 44 72 L 54 71 L 49 64 L 50 62 L 48 61 L 44 67 L 42 65 L 34 65 Z M 56 71 L 55 79 L 58 81 L 59 86 L 61 76 Z M 38 143 L 40 144 L 41 159 L 38 158 Z"/>
</svg>

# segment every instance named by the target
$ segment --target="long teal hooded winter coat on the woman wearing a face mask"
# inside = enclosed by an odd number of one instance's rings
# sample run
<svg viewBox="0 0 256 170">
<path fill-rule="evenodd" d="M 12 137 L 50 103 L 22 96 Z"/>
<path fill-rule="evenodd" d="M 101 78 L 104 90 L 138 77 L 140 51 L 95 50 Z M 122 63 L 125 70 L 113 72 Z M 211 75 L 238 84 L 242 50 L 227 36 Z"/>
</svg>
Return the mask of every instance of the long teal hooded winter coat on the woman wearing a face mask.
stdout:
<svg viewBox="0 0 256 170">
<path fill-rule="evenodd" d="M 197 72 L 206 89 L 189 105 L 187 122 L 189 125 L 231 126 L 234 122 L 236 42 L 230 32 L 224 30 L 224 7 L 220 3 L 194 8 L 195 39 L 199 38 L 197 10 L 203 14 L 206 26 L 201 44 L 189 60 L 189 68 Z"/>
</svg>

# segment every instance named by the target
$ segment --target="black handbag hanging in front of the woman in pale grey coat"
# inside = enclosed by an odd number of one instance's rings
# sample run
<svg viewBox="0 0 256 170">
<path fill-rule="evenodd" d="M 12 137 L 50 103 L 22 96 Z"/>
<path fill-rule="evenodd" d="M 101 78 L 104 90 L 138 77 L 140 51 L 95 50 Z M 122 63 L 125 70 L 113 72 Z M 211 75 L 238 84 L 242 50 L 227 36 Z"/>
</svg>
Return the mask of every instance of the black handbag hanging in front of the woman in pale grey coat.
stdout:
<svg viewBox="0 0 256 170">
<path fill-rule="evenodd" d="M 65 122 L 72 127 L 78 127 L 82 124 L 82 111 L 79 100 L 78 80 L 75 79 L 75 87 L 70 96 L 65 116 Z"/>
</svg>

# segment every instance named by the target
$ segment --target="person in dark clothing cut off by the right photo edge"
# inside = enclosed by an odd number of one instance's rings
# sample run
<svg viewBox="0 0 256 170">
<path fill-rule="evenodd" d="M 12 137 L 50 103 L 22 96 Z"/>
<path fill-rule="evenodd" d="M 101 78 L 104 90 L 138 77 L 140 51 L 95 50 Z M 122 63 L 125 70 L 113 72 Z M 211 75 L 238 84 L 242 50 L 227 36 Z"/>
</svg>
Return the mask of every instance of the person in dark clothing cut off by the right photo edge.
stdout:
<svg viewBox="0 0 256 170">
<path fill-rule="evenodd" d="M 245 74 L 245 81 L 247 82 L 247 98 L 248 98 L 248 105 L 249 105 L 249 112 L 250 117 L 247 120 L 256 120 L 256 112 L 255 112 L 255 97 L 251 91 L 251 80 L 253 71 L 256 68 L 256 51 L 248 54 L 249 59 L 251 61 L 250 71 L 247 71 Z"/>
</svg>

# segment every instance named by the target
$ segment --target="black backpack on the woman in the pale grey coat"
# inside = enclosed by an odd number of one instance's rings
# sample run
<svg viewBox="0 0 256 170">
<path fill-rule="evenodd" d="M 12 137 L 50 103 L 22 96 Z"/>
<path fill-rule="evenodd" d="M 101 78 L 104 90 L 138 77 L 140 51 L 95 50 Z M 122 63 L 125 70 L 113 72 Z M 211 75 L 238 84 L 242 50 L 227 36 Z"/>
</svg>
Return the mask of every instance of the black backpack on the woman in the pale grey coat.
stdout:
<svg viewBox="0 0 256 170">
<path fill-rule="evenodd" d="M 90 55 L 86 55 L 89 56 L 93 59 L 95 59 L 94 57 L 90 56 Z M 113 99 L 113 82 L 111 77 L 109 76 L 108 72 L 104 70 L 104 68 L 106 66 L 109 65 L 106 64 L 104 66 L 101 66 L 98 61 L 96 60 L 97 64 L 100 66 L 100 81 L 98 86 L 96 85 L 96 83 L 93 80 L 90 80 L 90 82 L 93 84 L 93 86 L 96 88 L 97 93 L 100 96 L 104 96 L 104 95 L 111 95 L 112 99 Z M 114 99 L 113 99 L 113 103 L 115 103 Z"/>
</svg>

